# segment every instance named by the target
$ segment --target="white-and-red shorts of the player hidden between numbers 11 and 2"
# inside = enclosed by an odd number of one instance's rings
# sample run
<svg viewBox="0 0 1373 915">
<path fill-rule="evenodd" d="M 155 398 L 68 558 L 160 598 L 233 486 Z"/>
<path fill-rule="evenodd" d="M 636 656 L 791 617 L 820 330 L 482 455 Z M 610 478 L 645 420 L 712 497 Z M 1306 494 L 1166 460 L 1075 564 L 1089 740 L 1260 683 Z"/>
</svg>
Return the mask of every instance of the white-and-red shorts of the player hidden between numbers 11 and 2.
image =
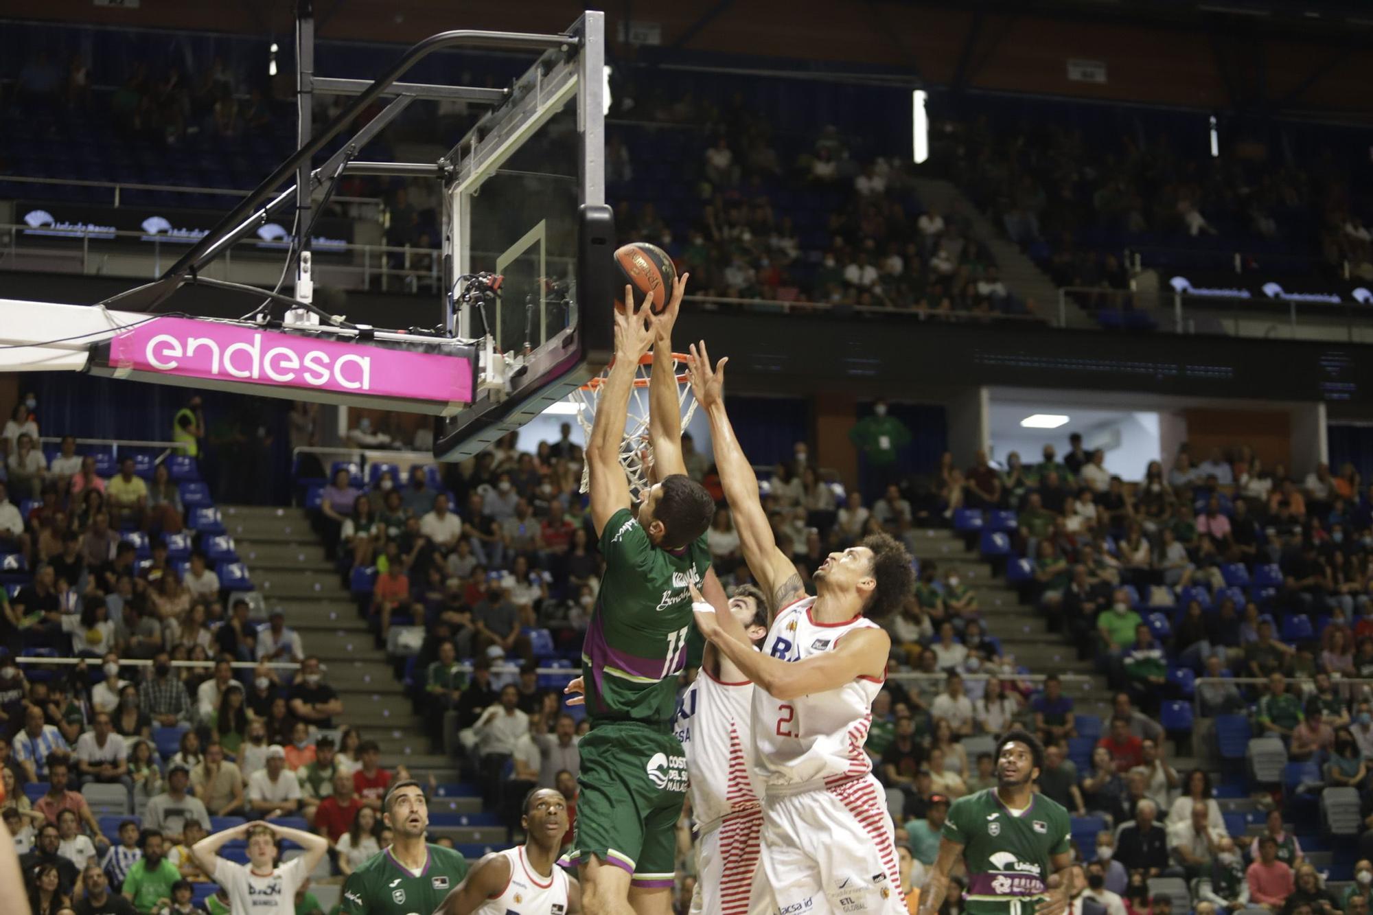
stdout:
<svg viewBox="0 0 1373 915">
<path fill-rule="evenodd" d="M 691 915 L 772 915 L 759 889 L 762 828 L 762 811 L 754 811 L 726 816 L 700 834 Z"/>
</svg>

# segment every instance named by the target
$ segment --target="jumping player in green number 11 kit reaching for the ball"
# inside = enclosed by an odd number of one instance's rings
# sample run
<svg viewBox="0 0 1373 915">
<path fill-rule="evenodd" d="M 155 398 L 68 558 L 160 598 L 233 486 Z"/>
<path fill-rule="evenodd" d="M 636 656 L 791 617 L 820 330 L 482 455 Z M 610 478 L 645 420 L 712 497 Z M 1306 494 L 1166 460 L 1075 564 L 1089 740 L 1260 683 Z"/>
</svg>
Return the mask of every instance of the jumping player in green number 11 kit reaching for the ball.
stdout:
<svg viewBox="0 0 1373 915">
<path fill-rule="evenodd" d="M 714 500 L 686 475 L 681 405 L 671 357 L 686 275 L 671 301 L 652 315 L 615 315 L 615 361 L 601 389 L 586 463 L 590 510 L 605 574 L 582 647 L 582 681 L 590 734 L 578 745 L 581 794 L 568 857 L 579 867 L 588 912 L 667 915 L 671 911 L 676 837 L 686 793 L 686 758 L 673 736 L 677 677 L 692 632 L 691 585 L 724 589 L 710 570 L 706 530 Z M 633 290 L 625 290 L 633 306 Z M 629 394 L 640 359 L 654 349 L 649 376 L 649 444 L 654 477 L 630 511 L 619 463 Z"/>
</svg>

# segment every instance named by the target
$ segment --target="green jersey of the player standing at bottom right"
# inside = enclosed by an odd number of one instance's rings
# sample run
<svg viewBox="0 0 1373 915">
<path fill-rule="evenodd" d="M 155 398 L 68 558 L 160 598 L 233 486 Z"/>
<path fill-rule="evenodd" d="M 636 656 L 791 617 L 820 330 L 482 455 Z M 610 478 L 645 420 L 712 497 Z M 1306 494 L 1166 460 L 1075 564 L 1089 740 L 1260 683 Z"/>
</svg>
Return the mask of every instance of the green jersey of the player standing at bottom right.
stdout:
<svg viewBox="0 0 1373 915">
<path fill-rule="evenodd" d="M 1008 908 L 1030 915 L 1019 904 L 1043 894 L 1050 859 L 1068 850 L 1068 811 L 1043 794 L 1032 798 L 1019 816 L 995 789 L 961 797 L 949 808 L 943 837 L 962 845 L 971 915 L 1005 915 Z"/>
</svg>

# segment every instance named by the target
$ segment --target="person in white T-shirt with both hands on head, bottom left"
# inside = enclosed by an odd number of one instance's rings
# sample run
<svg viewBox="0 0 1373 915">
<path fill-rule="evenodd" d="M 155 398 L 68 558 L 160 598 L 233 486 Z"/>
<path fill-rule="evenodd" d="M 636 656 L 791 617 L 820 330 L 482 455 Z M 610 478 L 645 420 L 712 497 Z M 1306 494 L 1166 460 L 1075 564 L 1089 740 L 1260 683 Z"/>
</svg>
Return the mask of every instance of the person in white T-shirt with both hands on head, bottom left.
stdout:
<svg viewBox="0 0 1373 915">
<path fill-rule="evenodd" d="M 247 838 L 247 866 L 218 856 L 221 845 L 239 838 Z M 279 839 L 295 842 L 305 855 L 276 867 Z M 330 842 L 323 835 L 257 820 L 206 835 L 191 846 L 191 857 L 225 889 L 236 915 L 295 915 L 295 890 L 328 849 Z"/>
</svg>

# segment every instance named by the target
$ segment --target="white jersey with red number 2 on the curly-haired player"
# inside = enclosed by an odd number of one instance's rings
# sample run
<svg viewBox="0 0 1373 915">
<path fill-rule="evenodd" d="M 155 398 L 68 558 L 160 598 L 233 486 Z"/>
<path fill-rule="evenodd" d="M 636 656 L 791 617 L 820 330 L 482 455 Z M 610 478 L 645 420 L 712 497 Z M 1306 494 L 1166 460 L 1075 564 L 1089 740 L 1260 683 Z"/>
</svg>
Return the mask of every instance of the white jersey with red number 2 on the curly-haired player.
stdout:
<svg viewBox="0 0 1373 915">
<path fill-rule="evenodd" d="M 783 609 L 773 620 L 763 651 L 783 661 L 802 661 L 833 651 L 839 640 L 855 629 L 879 628 L 872 620 L 854 617 L 847 622 L 816 622 L 810 617 L 814 598 L 803 598 Z M 864 753 L 872 723 L 872 701 L 881 680 L 858 676 L 827 692 L 783 702 L 758 687 L 754 690 L 754 742 L 758 767 L 768 791 L 799 791 L 824 787 L 872 772 Z"/>
</svg>

